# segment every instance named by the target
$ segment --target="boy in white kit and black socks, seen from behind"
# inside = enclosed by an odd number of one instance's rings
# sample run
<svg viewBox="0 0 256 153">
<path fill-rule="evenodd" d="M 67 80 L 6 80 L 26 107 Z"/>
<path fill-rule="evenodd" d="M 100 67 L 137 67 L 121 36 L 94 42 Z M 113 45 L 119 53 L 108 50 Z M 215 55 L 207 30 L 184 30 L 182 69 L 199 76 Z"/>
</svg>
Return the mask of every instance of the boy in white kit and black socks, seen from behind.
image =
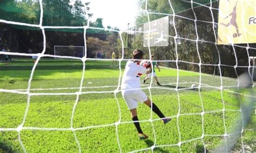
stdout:
<svg viewBox="0 0 256 153">
<path fill-rule="evenodd" d="M 143 51 L 140 51 L 138 49 L 134 50 L 132 52 L 133 61 L 127 61 L 123 78 L 122 78 L 122 95 L 124 100 L 127 103 L 127 106 L 130 109 L 132 120 L 134 121 L 134 126 L 136 127 L 138 131 L 138 136 L 140 140 L 145 140 L 148 138 L 147 135 L 145 135 L 140 128 L 139 119 L 137 116 L 137 107 L 138 107 L 138 101 L 145 103 L 150 108 L 152 107 L 152 110 L 154 113 L 156 113 L 163 121 L 163 123 L 167 123 L 171 121 L 170 118 L 166 118 L 163 113 L 161 113 L 160 109 L 151 101 L 149 98 L 147 98 L 146 94 L 140 89 L 140 76 L 142 74 L 149 74 L 151 73 L 152 69 L 149 64 L 146 62 L 143 65 L 140 65 L 140 60 L 143 59 Z"/>
</svg>

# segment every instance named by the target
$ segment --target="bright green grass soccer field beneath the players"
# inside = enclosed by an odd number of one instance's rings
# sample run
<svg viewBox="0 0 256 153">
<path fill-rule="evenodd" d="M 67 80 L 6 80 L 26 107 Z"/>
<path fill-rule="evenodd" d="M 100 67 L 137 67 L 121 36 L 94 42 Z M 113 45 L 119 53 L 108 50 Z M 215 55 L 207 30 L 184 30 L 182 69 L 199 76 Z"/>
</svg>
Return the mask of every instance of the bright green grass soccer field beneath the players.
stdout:
<svg viewBox="0 0 256 153">
<path fill-rule="evenodd" d="M 8 65 L 6 62 L 0 63 L 0 89 L 25 92 L 33 64 L 31 59 L 11 61 Z M 144 133 L 149 135 L 148 140 L 139 141 L 121 93 L 117 93 L 117 99 L 114 96 L 119 82 L 119 67 L 110 65 L 111 61 L 86 61 L 83 94 L 79 96 L 73 116 L 73 128 L 76 129 L 82 152 L 119 152 L 118 144 L 122 152 L 146 149 L 154 144 L 157 146 L 154 148 L 156 152 L 179 152 L 179 142 L 182 142 L 180 148 L 183 152 L 201 152 L 204 144 L 211 151 L 224 144 L 225 128 L 227 134 L 241 131 L 238 128 L 241 124 L 241 113 L 238 110 L 241 103 L 251 105 L 247 96 L 213 88 L 221 86 L 220 77 L 207 74 L 201 75 L 200 92 L 198 89 L 189 89 L 192 84 L 198 85 L 200 76 L 199 73 L 188 71 L 179 71 L 179 86 L 176 91 L 177 70 L 161 68 L 157 76 L 163 86 L 159 88 L 153 80 L 150 91 L 153 102 L 166 116 L 172 117 L 172 121 L 164 125 L 153 114 L 153 122 L 150 122 L 151 109 L 139 104 L 140 124 Z M 124 66 L 125 62 L 122 62 L 122 71 Z M 79 91 L 82 68 L 82 61 L 79 60 L 41 59 L 32 78 L 30 93 L 76 93 Z M 149 87 L 149 83 L 150 81 L 142 87 Z M 236 85 L 237 80 L 223 78 L 224 89 L 235 91 Z M 144 89 L 144 92 L 150 97 L 149 89 Z M 0 97 L 0 128 L 17 128 L 23 121 L 28 95 L 0 92 Z M 24 127 L 45 129 L 21 131 L 21 140 L 27 152 L 78 152 L 74 133 L 69 130 L 76 98 L 75 94 L 30 97 Z M 225 113 L 222 111 L 223 103 Z M 255 109 L 255 104 L 252 107 Z M 205 114 L 201 116 L 203 109 Z M 177 118 L 178 113 L 180 116 Z M 256 146 L 252 145 L 256 143 L 256 115 L 254 110 L 248 114 L 250 120 L 244 127 L 242 141 L 256 151 Z M 114 123 L 118 122 L 119 117 L 121 123 L 116 128 Z M 47 130 L 49 128 L 56 129 Z M 235 148 L 240 150 L 241 137 L 237 142 Z M 0 152 L 2 151 L 23 151 L 17 131 L 0 131 Z"/>
</svg>

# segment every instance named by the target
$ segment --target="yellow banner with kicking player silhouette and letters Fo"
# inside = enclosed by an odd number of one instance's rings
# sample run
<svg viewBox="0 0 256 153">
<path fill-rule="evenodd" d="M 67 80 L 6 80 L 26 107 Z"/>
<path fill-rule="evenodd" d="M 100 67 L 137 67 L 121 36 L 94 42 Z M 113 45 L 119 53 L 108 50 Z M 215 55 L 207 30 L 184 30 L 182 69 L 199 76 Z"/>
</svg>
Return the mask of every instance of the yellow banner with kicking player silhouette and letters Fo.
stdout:
<svg viewBox="0 0 256 153">
<path fill-rule="evenodd" d="M 218 44 L 256 43 L 256 0 L 220 0 Z"/>
</svg>

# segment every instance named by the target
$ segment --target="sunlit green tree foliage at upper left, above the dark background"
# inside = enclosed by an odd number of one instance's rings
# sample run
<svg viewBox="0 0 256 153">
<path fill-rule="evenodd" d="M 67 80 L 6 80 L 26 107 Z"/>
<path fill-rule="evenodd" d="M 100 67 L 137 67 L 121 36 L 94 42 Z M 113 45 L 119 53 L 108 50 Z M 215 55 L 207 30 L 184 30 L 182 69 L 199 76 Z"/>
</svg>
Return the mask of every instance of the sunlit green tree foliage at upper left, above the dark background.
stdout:
<svg viewBox="0 0 256 153">
<path fill-rule="evenodd" d="M 84 26 L 88 20 L 85 9 L 89 11 L 89 4 L 81 1 L 71 4 L 66 0 L 44 0 L 43 26 Z M 39 24 L 41 9 L 39 1 L 35 0 L 0 1 L 0 14 L 0 19 Z M 88 14 L 88 16 L 90 17 L 92 14 Z M 24 26 L 15 26 L 25 29 Z"/>
</svg>

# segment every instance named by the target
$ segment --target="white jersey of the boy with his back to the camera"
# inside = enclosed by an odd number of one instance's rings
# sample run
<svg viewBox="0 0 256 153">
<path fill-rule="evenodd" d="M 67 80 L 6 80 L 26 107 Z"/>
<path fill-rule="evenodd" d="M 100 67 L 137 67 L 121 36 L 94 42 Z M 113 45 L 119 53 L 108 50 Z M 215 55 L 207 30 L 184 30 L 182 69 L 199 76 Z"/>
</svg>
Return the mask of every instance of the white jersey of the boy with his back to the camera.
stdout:
<svg viewBox="0 0 256 153">
<path fill-rule="evenodd" d="M 133 61 L 127 61 L 122 78 L 121 89 L 140 88 L 140 76 L 146 74 L 147 69 Z"/>
</svg>

